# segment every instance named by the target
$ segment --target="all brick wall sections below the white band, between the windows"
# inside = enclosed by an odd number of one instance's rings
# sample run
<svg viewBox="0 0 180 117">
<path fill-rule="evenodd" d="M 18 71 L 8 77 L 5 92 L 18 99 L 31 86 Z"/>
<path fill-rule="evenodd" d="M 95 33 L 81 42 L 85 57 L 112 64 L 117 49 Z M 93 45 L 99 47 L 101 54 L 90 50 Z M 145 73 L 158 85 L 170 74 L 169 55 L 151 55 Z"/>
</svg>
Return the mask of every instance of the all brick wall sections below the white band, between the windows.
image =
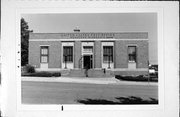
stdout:
<svg viewBox="0 0 180 117">
<path fill-rule="evenodd" d="M 60 41 L 30 41 L 29 64 L 40 67 L 40 45 L 49 45 L 49 68 L 61 68 L 62 48 Z M 128 45 L 137 46 L 137 68 L 148 67 L 147 40 L 117 40 L 114 43 L 114 67 L 128 68 Z M 74 67 L 79 68 L 81 42 L 75 41 Z M 101 68 L 101 41 L 94 43 L 94 68 Z"/>
</svg>

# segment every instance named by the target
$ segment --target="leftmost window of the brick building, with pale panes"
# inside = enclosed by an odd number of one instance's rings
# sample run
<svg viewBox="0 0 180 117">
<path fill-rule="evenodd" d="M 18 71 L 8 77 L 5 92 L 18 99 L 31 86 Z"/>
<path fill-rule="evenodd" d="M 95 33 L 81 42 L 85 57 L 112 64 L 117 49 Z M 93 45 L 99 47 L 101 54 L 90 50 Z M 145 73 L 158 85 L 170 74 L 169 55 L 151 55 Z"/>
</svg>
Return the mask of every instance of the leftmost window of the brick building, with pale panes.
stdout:
<svg viewBox="0 0 180 117">
<path fill-rule="evenodd" d="M 41 63 L 48 63 L 48 46 L 41 46 Z"/>
</svg>

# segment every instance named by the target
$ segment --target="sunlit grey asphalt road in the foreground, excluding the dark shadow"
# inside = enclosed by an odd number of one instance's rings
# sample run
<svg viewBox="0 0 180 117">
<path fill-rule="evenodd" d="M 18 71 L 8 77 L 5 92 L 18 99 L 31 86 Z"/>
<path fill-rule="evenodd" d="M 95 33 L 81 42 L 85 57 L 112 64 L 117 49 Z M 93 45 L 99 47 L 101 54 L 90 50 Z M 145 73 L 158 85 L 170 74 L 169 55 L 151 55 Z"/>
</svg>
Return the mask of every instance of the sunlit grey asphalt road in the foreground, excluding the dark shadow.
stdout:
<svg viewBox="0 0 180 117">
<path fill-rule="evenodd" d="M 78 100 L 134 96 L 158 99 L 158 86 L 22 81 L 22 104 L 83 104 Z"/>
</svg>

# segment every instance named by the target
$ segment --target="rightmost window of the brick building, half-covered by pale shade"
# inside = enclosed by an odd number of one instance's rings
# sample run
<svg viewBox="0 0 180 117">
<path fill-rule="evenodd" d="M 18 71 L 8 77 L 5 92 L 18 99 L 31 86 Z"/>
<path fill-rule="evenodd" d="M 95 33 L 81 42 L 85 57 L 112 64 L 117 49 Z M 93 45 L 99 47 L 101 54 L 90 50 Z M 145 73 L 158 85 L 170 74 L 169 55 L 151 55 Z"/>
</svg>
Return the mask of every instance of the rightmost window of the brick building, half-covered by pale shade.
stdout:
<svg viewBox="0 0 180 117">
<path fill-rule="evenodd" d="M 136 62 L 136 46 L 128 46 L 129 62 Z"/>
</svg>

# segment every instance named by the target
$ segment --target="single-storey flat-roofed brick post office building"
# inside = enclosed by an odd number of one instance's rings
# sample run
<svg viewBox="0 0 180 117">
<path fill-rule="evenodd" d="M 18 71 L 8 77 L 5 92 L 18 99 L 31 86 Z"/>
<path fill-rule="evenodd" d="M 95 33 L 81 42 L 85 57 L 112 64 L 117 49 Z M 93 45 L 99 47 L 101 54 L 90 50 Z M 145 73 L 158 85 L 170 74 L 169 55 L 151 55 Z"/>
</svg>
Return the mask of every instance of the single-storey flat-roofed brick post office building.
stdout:
<svg viewBox="0 0 180 117">
<path fill-rule="evenodd" d="M 29 64 L 36 70 L 139 75 L 148 73 L 148 60 L 147 32 L 30 33 Z"/>
</svg>

